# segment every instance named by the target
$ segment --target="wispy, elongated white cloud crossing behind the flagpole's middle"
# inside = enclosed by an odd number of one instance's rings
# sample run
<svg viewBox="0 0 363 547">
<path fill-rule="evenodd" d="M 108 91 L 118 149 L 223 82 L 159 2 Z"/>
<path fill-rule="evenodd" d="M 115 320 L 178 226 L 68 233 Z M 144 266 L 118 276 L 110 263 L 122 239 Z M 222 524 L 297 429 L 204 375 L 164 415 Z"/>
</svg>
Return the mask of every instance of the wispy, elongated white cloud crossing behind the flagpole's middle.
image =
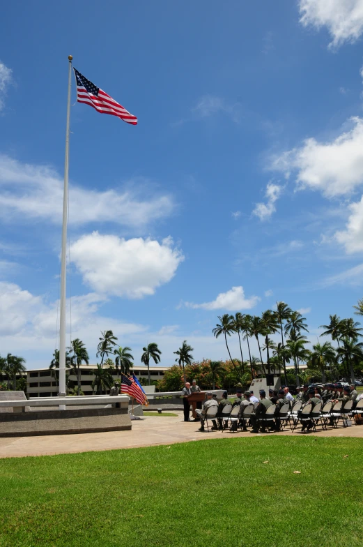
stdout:
<svg viewBox="0 0 363 547">
<path fill-rule="evenodd" d="M 141 181 L 142 182 L 142 181 Z M 141 190 L 90 190 L 70 185 L 72 225 L 93 221 L 143 226 L 151 220 L 169 216 L 173 200 L 169 195 L 150 195 Z M 29 165 L 0 155 L 0 211 L 6 220 L 40 218 L 60 224 L 63 207 L 63 178 L 46 165 Z M 82 211 L 79 207 L 82 205 Z"/>
</svg>

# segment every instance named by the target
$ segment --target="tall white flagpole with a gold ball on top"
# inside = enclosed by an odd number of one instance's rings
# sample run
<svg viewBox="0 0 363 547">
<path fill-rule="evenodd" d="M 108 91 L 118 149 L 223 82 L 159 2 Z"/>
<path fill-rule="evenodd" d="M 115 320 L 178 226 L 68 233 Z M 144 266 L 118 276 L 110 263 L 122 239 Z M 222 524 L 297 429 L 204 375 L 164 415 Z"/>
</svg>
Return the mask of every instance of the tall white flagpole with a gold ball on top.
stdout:
<svg viewBox="0 0 363 547">
<path fill-rule="evenodd" d="M 61 255 L 61 314 L 59 327 L 59 397 L 65 397 L 65 301 L 67 275 L 67 213 L 68 213 L 68 158 L 69 158 L 69 126 L 70 126 L 70 78 L 72 73 L 72 55 L 68 56 L 68 100 L 67 123 L 65 129 L 65 160 L 64 160 L 64 190 L 63 190 L 63 227 Z M 59 410 L 65 410 L 65 405 L 59 405 Z"/>
</svg>

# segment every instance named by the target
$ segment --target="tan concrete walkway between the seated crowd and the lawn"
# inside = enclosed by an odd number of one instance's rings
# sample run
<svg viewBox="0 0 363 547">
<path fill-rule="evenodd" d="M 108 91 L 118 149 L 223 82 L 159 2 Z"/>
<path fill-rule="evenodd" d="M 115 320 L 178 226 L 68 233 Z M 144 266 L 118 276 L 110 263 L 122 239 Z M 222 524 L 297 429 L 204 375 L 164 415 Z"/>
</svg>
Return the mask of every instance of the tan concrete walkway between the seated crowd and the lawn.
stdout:
<svg viewBox="0 0 363 547">
<path fill-rule="evenodd" d="M 226 431 L 198 431 L 198 422 L 184 422 L 183 412 L 178 417 L 149 416 L 132 421 L 131 431 L 113 431 L 109 433 L 84 433 L 76 435 L 45 435 L 43 437 L 0 437 L 0 458 L 20 456 L 45 456 L 53 454 L 72 454 L 77 452 L 113 450 L 137 447 L 151 447 L 157 444 L 173 444 L 202 439 L 229 439 L 231 437 L 252 437 L 252 433 L 230 433 Z M 263 434 L 258 433 L 260 437 Z M 305 435 L 300 429 L 294 433 L 288 429 L 281 433 L 266 435 Z M 307 433 L 311 435 L 311 433 Z M 338 429 L 318 428 L 319 437 L 360 437 L 363 438 L 363 426 Z"/>
</svg>

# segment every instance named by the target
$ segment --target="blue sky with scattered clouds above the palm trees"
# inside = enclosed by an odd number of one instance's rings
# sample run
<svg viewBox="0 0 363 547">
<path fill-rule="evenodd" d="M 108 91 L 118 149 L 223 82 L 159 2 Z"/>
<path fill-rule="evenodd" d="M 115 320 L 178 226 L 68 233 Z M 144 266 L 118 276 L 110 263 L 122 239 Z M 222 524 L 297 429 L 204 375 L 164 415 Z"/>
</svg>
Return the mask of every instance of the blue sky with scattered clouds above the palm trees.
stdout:
<svg viewBox="0 0 363 547">
<path fill-rule="evenodd" d="M 156 341 L 169 365 L 184 339 L 225 359 L 222 313 L 284 300 L 313 342 L 330 313 L 352 315 L 363 0 L 39 0 L 2 15 L 1 354 L 47 366 L 57 345 L 68 54 L 139 119 L 74 104 L 72 81 L 68 296 L 92 362 L 105 329 L 136 361 Z"/>
</svg>

